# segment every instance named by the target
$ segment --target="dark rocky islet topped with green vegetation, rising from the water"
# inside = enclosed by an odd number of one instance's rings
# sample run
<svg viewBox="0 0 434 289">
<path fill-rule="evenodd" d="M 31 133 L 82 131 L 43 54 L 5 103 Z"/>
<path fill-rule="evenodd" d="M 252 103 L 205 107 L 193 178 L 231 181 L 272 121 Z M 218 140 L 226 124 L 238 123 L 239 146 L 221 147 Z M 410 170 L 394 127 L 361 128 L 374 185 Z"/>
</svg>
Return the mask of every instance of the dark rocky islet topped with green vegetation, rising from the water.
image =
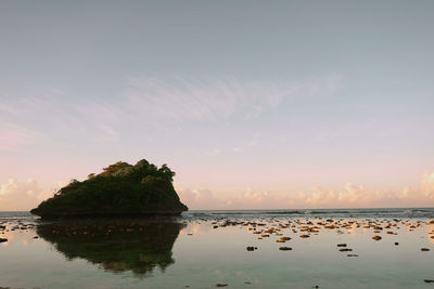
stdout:
<svg viewBox="0 0 434 289">
<path fill-rule="evenodd" d="M 188 208 L 175 192 L 174 175 L 166 165 L 119 161 L 86 181 L 73 180 L 30 212 L 42 218 L 180 214 Z"/>
</svg>

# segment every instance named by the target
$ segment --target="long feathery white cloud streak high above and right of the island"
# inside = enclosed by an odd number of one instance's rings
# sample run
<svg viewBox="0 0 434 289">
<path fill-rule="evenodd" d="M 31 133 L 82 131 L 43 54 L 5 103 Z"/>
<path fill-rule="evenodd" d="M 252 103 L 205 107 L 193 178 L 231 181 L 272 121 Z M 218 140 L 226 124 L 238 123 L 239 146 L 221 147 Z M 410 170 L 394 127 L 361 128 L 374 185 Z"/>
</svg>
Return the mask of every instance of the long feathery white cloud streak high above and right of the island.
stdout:
<svg viewBox="0 0 434 289">
<path fill-rule="evenodd" d="M 247 81 L 234 78 L 130 78 L 126 104 L 157 119 L 225 120 L 235 115 L 258 116 L 294 97 L 335 92 L 339 76 L 291 81 Z"/>
</svg>

